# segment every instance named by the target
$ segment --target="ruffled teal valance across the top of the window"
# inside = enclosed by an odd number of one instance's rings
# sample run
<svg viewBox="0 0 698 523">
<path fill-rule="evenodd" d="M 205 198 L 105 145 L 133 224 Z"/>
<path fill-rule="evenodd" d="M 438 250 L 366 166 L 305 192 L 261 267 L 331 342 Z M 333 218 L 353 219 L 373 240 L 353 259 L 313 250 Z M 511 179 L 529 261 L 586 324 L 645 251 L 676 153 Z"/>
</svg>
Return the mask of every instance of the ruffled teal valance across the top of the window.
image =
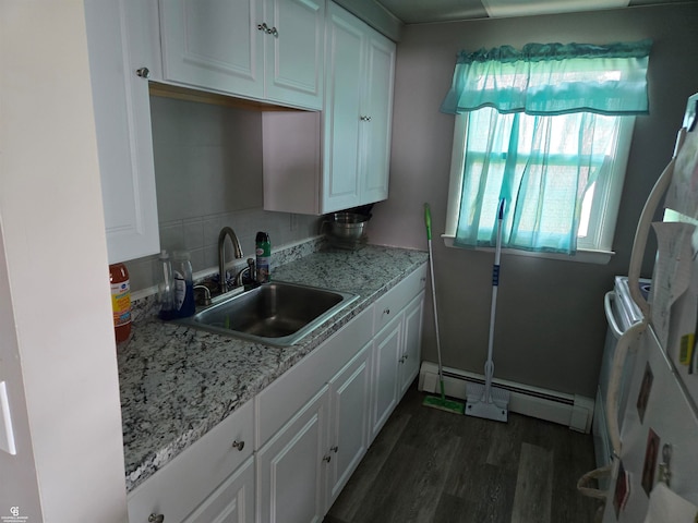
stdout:
<svg viewBox="0 0 698 523">
<path fill-rule="evenodd" d="M 491 107 L 502 114 L 647 114 L 651 45 L 647 39 L 461 51 L 441 110 L 459 114 Z"/>
</svg>

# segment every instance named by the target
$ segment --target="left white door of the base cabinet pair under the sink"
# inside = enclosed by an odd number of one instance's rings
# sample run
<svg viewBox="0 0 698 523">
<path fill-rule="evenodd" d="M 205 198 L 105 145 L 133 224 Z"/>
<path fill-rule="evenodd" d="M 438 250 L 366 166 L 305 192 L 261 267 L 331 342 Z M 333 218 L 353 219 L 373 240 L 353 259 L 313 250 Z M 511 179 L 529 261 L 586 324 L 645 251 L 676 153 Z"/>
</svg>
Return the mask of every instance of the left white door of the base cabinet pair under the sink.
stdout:
<svg viewBox="0 0 698 523">
<path fill-rule="evenodd" d="M 328 386 L 257 454 L 258 521 L 310 523 L 325 514 Z"/>
</svg>

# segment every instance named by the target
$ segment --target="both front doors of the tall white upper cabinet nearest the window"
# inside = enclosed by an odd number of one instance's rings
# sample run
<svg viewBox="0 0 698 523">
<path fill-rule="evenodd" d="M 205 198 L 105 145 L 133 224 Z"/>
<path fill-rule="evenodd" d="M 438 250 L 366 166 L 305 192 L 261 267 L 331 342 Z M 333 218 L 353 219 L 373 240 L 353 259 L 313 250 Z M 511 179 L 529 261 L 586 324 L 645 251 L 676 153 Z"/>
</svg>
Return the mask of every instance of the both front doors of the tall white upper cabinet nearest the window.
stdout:
<svg viewBox="0 0 698 523">
<path fill-rule="evenodd" d="M 329 4 L 322 214 L 387 198 L 395 44 Z"/>
</svg>

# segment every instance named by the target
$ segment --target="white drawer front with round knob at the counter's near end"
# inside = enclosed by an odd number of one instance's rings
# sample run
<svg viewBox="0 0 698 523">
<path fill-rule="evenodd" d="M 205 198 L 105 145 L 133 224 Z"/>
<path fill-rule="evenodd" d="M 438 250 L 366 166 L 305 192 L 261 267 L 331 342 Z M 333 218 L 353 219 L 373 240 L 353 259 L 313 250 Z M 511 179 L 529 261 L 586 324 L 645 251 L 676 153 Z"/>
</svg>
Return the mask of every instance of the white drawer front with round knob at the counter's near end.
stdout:
<svg viewBox="0 0 698 523">
<path fill-rule="evenodd" d="M 237 448 L 233 442 L 244 443 Z M 180 522 L 252 455 L 254 409 L 249 401 L 129 495 L 129 521 L 151 514 Z M 241 447 L 241 448 L 240 448 Z"/>
</svg>

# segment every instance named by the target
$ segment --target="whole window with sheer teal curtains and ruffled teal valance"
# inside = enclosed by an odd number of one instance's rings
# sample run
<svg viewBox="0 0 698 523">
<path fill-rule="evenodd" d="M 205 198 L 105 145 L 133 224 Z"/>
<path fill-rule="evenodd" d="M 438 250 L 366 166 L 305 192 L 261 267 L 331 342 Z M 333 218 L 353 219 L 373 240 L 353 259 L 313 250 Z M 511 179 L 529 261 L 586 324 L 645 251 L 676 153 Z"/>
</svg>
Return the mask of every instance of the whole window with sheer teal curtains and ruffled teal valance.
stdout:
<svg viewBox="0 0 698 523">
<path fill-rule="evenodd" d="M 461 52 L 446 236 L 460 247 L 576 255 L 612 248 L 651 41 Z M 504 216 L 498 220 L 500 203 Z M 576 259 L 579 259 L 577 257 Z"/>
</svg>

